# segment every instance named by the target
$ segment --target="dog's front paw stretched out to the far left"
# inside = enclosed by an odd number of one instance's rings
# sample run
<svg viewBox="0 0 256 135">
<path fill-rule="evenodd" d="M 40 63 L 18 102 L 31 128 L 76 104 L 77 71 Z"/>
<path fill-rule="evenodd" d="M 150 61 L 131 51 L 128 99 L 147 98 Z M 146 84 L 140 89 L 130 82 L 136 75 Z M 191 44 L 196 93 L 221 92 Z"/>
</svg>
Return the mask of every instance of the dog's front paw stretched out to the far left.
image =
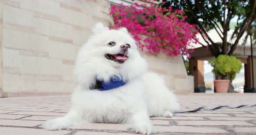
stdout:
<svg viewBox="0 0 256 135">
<path fill-rule="evenodd" d="M 63 118 L 51 119 L 42 124 L 46 130 L 61 130 L 69 128 L 69 123 L 64 122 Z"/>
</svg>

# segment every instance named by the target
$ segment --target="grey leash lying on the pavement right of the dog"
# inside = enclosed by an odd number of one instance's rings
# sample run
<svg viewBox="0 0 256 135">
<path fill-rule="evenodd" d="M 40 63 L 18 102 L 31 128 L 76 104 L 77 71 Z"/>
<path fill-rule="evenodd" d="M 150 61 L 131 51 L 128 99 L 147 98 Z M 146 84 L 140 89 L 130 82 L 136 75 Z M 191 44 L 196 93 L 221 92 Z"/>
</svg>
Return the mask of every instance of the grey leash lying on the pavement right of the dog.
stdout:
<svg viewBox="0 0 256 135">
<path fill-rule="evenodd" d="M 218 106 L 218 107 L 215 107 L 213 109 L 210 109 L 210 108 L 207 108 L 207 107 L 199 107 L 199 108 L 191 110 L 191 111 L 174 111 L 174 113 L 194 113 L 194 112 L 200 111 L 201 109 L 204 109 L 204 110 L 216 110 L 216 109 L 220 109 L 220 108 L 223 108 L 223 107 L 234 109 L 234 108 L 241 108 L 241 107 L 244 107 L 244 106 L 253 107 L 253 106 L 256 106 L 256 104 L 254 104 L 254 105 L 240 105 L 240 106 L 236 106 L 236 107 L 234 107 L 234 106 Z"/>
</svg>

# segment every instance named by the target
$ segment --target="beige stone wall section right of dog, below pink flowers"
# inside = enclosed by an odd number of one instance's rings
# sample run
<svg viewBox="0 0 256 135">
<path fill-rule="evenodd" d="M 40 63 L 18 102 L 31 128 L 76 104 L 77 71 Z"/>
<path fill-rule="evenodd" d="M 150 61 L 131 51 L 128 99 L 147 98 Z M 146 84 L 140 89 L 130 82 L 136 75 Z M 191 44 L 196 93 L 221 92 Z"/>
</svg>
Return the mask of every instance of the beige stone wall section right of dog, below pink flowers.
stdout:
<svg viewBox="0 0 256 135">
<path fill-rule="evenodd" d="M 165 83 L 175 93 L 193 93 L 181 55 L 167 56 L 165 54 L 148 54 L 142 52 L 148 61 L 149 71 L 156 72 L 164 77 Z"/>
</svg>

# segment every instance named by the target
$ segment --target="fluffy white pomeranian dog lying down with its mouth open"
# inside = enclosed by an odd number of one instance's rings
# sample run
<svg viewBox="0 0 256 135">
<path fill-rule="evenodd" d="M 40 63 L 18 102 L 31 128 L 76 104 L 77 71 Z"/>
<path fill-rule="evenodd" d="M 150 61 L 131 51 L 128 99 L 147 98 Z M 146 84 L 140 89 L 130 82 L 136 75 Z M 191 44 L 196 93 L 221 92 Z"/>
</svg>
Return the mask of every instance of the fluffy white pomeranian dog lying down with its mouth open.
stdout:
<svg viewBox="0 0 256 135">
<path fill-rule="evenodd" d="M 124 123 L 131 125 L 131 131 L 151 134 L 149 117 L 172 117 L 179 109 L 176 96 L 162 77 L 147 72 L 147 63 L 126 28 L 109 30 L 97 23 L 92 31 L 77 56 L 77 86 L 69 113 L 44 122 L 43 128 Z"/>
</svg>

